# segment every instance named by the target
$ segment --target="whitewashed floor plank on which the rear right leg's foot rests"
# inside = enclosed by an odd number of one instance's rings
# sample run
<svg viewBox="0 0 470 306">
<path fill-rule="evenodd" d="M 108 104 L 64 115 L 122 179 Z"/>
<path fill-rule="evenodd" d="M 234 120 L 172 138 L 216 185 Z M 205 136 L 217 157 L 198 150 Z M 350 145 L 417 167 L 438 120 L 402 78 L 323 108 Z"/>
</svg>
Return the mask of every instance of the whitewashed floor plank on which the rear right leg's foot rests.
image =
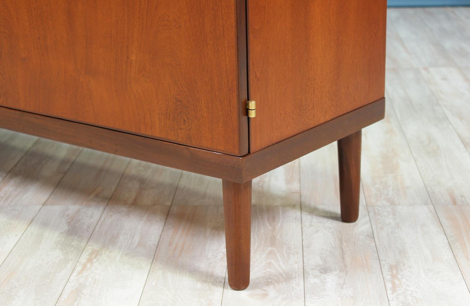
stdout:
<svg viewBox="0 0 470 306">
<path fill-rule="evenodd" d="M 339 206 L 303 206 L 302 235 L 306 306 L 388 305 L 365 205 L 354 224 Z"/>
</svg>

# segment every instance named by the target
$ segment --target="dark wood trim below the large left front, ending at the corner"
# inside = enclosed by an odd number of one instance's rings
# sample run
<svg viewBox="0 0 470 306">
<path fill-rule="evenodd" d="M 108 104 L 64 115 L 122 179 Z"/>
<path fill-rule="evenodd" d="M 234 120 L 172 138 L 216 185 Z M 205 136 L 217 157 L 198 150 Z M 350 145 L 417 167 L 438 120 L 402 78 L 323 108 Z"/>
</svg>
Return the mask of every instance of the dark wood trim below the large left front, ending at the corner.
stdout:
<svg viewBox="0 0 470 306">
<path fill-rule="evenodd" d="M 242 159 L 64 119 L 0 107 L 0 127 L 145 162 L 241 180 Z"/>
</svg>

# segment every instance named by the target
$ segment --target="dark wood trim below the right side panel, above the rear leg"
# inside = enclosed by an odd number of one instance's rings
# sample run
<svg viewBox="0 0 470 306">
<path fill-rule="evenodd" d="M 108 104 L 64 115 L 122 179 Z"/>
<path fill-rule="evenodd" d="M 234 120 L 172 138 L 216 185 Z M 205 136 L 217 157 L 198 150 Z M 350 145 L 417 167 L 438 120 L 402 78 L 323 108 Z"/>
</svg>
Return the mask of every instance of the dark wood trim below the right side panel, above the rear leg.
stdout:
<svg viewBox="0 0 470 306">
<path fill-rule="evenodd" d="M 383 119 L 384 116 L 385 98 L 382 98 L 265 149 L 245 155 L 242 181 L 252 180 L 333 141 L 351 135 Z"/>
</svg>

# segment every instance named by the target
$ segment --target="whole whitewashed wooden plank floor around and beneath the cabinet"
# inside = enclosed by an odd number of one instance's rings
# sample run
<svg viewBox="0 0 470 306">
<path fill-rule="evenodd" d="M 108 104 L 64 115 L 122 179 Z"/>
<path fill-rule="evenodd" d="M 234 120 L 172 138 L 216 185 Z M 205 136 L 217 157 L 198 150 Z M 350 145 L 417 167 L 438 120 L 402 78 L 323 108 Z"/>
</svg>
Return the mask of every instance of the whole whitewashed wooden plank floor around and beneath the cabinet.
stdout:
<svg viewBox="0 0 470 306">
<path fill-rule="evenodd" d="M 0 306 L 470 305 L 470 8 L 390 9 L 360 218 L 336 144 L 254 180 L 228 287 L 221 181 L 0 130 Z"/>
</svg>

